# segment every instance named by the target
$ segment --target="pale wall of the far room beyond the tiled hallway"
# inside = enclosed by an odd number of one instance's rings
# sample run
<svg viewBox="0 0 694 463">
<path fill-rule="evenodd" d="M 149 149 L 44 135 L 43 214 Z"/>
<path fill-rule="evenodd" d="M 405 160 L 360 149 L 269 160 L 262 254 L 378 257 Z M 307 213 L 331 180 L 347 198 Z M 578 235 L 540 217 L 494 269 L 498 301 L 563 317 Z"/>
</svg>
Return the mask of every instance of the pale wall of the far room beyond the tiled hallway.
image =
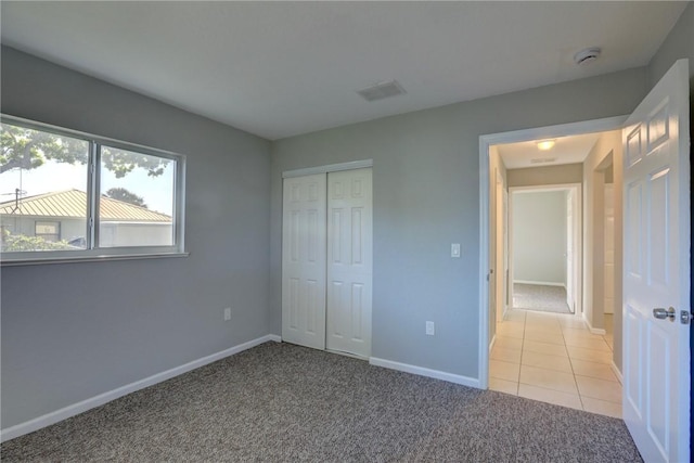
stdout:
<svg viewBox="0 0 694 463">
<path fill-rule="evenodd" d="M 566 191 L 514 192 L 513 280 L 566 285 Z"/>
</svg>

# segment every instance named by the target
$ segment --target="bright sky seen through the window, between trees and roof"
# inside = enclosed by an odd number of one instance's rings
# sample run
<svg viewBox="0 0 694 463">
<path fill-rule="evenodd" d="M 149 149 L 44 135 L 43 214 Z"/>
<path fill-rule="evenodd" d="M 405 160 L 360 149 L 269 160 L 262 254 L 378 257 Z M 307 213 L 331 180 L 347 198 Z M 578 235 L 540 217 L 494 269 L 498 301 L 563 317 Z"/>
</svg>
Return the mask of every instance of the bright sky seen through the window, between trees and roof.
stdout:
<svg viewBox="0 0 694 463">
<path fill-rule="evenodd" d="M 164 173 L 157 177 L 147 177 L 145 169 L 136 168 L 120 179 L 116 179 L 112 171 L 104 168 L 101 173 L 101 191 L 103 193 L 111 188 L 125 188 L 143 197 L 149 209 L 171 216 L 174 166 L 175 163 L 169 163 Z M 36 169 L 17 168 L 0 173 L 0 202 L 14 200 L 17 188 L 24 193 L 23 197 L 70 189 L 86 192 L 87 166 L 48 160 Z"/>
</svg>

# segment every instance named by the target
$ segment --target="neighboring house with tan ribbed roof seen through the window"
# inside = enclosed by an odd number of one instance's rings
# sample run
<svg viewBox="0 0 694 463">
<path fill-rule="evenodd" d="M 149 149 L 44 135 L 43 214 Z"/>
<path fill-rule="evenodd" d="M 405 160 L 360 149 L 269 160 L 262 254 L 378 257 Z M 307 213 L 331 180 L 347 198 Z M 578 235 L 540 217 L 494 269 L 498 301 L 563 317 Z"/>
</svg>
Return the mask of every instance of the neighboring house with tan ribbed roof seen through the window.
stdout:
<svg viewBox="0 0 694 463">
<path fill-rule="evenodd" d="M 86 211 L 86 192 L 51 192 L 0 203 L 0 226 L 10 234 L 83 247 Z M 106 196 L 100 198 L 100 211 L 102 247 L 171 244 L 170 216 Z M 5 233 L 2 235 L 4 240 Z"/>
</svg>

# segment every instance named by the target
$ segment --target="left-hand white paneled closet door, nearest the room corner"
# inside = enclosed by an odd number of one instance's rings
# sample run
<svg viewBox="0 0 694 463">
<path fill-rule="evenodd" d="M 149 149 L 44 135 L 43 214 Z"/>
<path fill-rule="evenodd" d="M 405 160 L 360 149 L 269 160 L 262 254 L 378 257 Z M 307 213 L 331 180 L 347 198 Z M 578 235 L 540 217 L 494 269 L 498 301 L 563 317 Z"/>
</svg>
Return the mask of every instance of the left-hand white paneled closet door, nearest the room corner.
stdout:
<svg viewBox="0 0 694 463">
<path fill-rule="evenodd" d="M 282 339 L 325 348 L 325 175 L 284 179 Z"/>
</svg>

